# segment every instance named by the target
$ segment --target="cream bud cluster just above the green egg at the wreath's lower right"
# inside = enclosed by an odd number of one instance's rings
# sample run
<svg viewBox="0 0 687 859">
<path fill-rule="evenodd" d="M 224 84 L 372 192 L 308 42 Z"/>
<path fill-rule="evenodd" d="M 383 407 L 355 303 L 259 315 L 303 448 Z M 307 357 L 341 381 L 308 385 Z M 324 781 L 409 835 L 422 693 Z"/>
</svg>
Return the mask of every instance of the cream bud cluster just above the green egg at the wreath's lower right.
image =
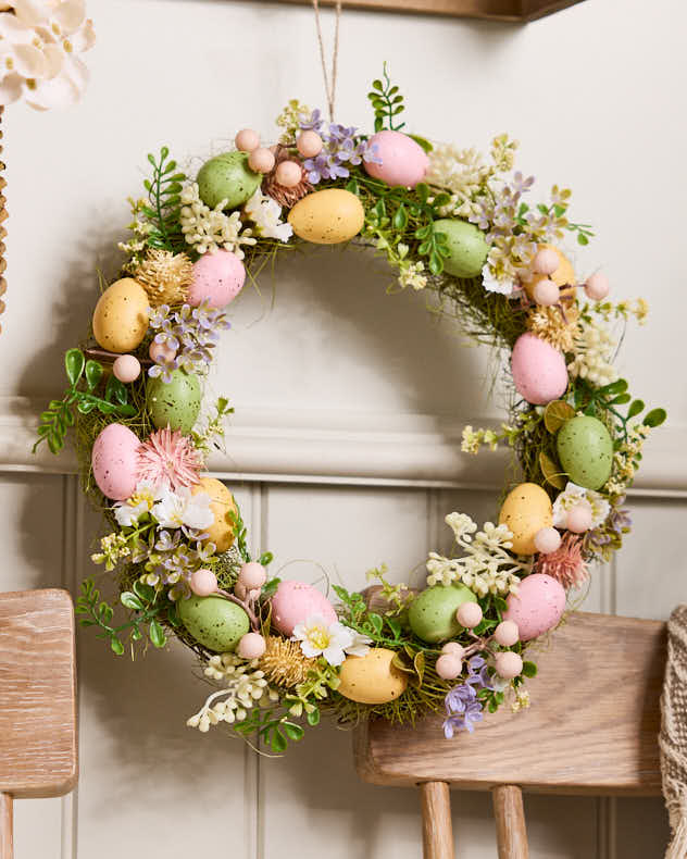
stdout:
<svg viewBox="0 0 687 859">
<path fill-rule="evenodd" d="M 510 530 L 485 522 L 484 530 L 477 531 L 476 523 L 465 513 L 450 513 L 445 521 L 453 530 L 455 544 L 463 549 L 464 556 L 446 558 L 429 552 L 427 585 L 448 586 L 460 582 L 479 597 L 516 594 L 519 573 L 529 573 L 532 562 L 520 561 L 507 551 L 513 545 Z"/>
</svg>

